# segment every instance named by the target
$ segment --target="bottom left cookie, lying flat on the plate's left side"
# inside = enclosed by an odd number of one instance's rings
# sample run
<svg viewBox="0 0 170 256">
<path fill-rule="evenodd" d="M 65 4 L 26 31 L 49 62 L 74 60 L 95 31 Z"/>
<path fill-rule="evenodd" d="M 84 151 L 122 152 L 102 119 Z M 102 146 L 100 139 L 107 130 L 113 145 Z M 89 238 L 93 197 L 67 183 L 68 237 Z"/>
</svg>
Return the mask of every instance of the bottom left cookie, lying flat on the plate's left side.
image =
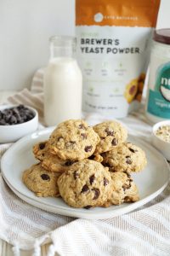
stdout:
<svg viewBox="0 0 170 256">
<path fill-rule="evenodd" d="M 37 164 L 23 172 L 22 181 L 37 196 L 59 196 L 57 180 L 60 174 L 48 172 L 41 164 Z"/>
</svg>

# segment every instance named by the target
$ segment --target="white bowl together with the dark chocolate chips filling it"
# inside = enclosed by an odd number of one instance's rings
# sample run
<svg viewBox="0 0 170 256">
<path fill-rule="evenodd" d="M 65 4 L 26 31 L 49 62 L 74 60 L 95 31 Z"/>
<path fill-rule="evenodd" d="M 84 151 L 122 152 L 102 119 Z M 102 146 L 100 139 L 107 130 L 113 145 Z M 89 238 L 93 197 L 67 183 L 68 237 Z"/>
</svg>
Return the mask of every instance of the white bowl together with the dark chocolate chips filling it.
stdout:
<svg viewBox="0 0 170 256">
<path fill-rule="evenodd" d="M 38 113 L 24 105 L 0 106 L 0 143 L 14 143 L 21 137 L 36 131 Z"/>
</svg>

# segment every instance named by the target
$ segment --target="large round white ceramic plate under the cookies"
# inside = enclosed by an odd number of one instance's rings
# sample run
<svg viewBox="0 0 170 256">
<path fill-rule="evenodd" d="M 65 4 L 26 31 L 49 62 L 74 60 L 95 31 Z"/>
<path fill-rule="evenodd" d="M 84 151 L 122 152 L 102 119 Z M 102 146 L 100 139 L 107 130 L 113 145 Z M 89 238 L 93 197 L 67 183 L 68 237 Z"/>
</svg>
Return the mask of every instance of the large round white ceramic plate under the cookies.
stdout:
<svg viewBox="0 0 170 256">
<path fill-rule="evenodd" d="M 107 208 L 95 207 L 86 210 L 69 207 L 61 198 L 37 197 L 26 188 L 24 183 L 22 183 L 22 172 L 37 162 L 31 152 L 32 146 L 39 141 L 48 139 L 53 130 L 53 127 L 48 128 L 20 139 L 20 141 L 14 143 L 14 145 L 3 154 L 1 162 L 3 177 L 9 187 L 21 199 L 35 207 L 40 207 L 48 212 L 55 212 L 61 215 L 77 218 L 111 218 L 123 213 L 131 212 L 134 209 L 143 206 L 148 201 L 154 199 L 156 195 L 159 195 L 167 186 L 170 173 L 167 161 L 148 143 L 144 143 L 138 138 L 129 136 L 129 141 L 144 149 L 148 160 L 148 164 L 143 172 L 133 174 L 134 181 L 139 187 L 139 201 L 122 204 L 121 206 L 111 206 Z"/>
</svg>

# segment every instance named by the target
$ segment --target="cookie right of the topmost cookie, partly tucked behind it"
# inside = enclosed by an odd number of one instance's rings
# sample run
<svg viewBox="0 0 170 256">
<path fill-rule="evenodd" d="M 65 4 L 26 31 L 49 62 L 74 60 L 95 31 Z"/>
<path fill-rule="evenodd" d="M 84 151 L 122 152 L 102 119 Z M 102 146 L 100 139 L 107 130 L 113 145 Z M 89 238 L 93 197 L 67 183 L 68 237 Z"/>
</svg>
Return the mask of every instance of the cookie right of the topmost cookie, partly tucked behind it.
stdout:
<svg viewBox="0 0 170 256">
<path fill-rule="evenodd" d="M 94 154 L 100 154 L 116 148 L 127 139 L 127 130 L 116 121 L 106 121 L 95 125 L 94 131 L 100 137 L 100 143 L 96 146 Z"/>
</svg>

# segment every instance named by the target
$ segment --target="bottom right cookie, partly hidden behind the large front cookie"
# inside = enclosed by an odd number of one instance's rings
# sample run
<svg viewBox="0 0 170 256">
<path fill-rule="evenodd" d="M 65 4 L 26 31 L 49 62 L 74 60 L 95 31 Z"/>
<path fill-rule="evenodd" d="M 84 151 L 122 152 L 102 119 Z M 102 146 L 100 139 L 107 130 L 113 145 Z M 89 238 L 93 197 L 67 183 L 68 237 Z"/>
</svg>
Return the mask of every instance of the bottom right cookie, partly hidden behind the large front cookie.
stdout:
<svg viewBox="0 0 170 256">
<path fill-rule="evenodd" d="M 105 207 L 120 205 L 123 202 L 139 201 L 139 191 L 133 178 L 126 172 L 111 172 L 111 197 Z"/>
</svg>

